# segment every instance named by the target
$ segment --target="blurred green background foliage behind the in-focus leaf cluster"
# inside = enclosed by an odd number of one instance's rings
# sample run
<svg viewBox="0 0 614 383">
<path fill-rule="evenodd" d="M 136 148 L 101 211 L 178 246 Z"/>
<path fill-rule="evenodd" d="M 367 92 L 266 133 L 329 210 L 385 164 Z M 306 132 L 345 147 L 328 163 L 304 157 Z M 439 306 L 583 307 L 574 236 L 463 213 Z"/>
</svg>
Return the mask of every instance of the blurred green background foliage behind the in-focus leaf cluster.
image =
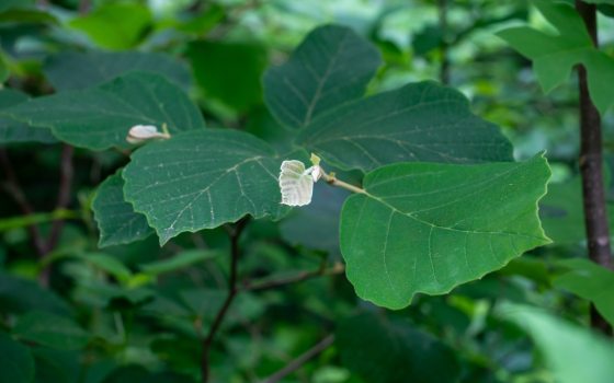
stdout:
<svg viewBox="0 0 614 383">
<path fill-rule="evenodd" d="M 604 5 L 599 16 L 602 50 L 610 55 L 611 11 Z M 513 301 L 584 326 L 589 317 L 588 301 L 555 282 L 569 269 L 560 259 L 585 253 L 576 80 L 544 95 L 531 62 L 493 35 L 516 24 L 549 28 L 526 1 L 2 0 L 0 81 L 44 95 L 117 74 L 96 73 L 98 59 L 79 53 L 164 53 L 180 62 L 169 77 L 190 92 L 209 127 L 245 129 L 289 152 L 292 132 L 264 107 L 261 77 L 326 23 L 351 26 L 379 48 L 385 65 L 369 92 L 440 80 L 501 127 L 516 159 L 546 150 L 554 177 L 541 213 L 555 243 L 448 295 L 419 295 L 410 307 L 386 312 L 360 301 L 339 272 L 344 195 L 318 185 L 311 206 L 281 223 L 248 225 L 239 276 L 246 291 L 216 339 L 212 380 L 265 381 L 336 334 L 331 347 L 283 382 L 554 382 L 556 372 L 526 333 L 493 310 Z M 0 108 L 8 105 L 0 100 Z M 0 136 L 8 131 L 3 124 L 0 118 Z M 612 113 L 603 126 L 611 154 Z M 198 381 L 203 334 L 226 294 L 224 228 L 182 234 L 162 248 L 154 236 L 101 248 L 92 197 L 127 162 L 125 153 L 77 149 L 69 202 L 57 209 L 61 144 L 53 137 L 19 141 L 0 139 L 0 381 Z M 36 214 L 23 214 L 11 197 L 13 182 Z M 613 193 L 610 187 L 610 199 Z M 29 227 L 45 236 L 58 219 L 65 222 L 57 244 L 41 259 Z M 285 279 L 300 281 L 251 289 Z M 613 305 L 602 302 L 605 311 Z M 562 330 L 539 328 L 546 337 Z M 590 352 L 583 358 L 566 362 L 590 363 Z"/>
</svg>

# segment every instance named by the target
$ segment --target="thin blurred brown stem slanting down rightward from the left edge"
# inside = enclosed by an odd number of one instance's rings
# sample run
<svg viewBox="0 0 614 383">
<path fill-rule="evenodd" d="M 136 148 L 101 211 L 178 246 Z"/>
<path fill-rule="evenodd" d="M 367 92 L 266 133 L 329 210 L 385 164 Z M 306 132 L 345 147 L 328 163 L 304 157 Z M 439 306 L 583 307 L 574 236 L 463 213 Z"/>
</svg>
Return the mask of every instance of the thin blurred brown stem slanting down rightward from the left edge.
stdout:
<svg viewBox="0 0 614 383">
<path fill-rule="evenodd" d="M 34 209 L 30 205 L 30 201 L 21 188 L 18 177 L 13 171 L 11 160 L 4 149 L 0 149 L 0 163 L 5 176 L 5 181 L 2 183 L 2 188 L 15 200 L 25 216 L 33 214 Z M 43 256 L 45 254 L 45 241 L 43 239 L 43 234 L 41 234 L 41 230 L 36 224 L 31 224 L 27 227 L 27 233 L 36 253 L 38 256 Z"/>
</svg>

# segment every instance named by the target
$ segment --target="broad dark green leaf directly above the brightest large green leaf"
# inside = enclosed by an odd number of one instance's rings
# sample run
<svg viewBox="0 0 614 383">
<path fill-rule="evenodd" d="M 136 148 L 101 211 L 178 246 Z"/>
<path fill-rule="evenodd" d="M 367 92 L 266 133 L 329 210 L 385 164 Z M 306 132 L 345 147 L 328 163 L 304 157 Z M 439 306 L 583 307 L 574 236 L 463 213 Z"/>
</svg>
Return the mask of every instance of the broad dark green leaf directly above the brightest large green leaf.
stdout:
<svg viewBox="0 0 614 383">
<path fill-rule="evenodd" d="M 499 128 L 469 111 L 459 92 L 420 82 L 332 109 L 300 131 L 298 144 L 341 169 L 403 161 L 512 161 Z"/>
</svg>

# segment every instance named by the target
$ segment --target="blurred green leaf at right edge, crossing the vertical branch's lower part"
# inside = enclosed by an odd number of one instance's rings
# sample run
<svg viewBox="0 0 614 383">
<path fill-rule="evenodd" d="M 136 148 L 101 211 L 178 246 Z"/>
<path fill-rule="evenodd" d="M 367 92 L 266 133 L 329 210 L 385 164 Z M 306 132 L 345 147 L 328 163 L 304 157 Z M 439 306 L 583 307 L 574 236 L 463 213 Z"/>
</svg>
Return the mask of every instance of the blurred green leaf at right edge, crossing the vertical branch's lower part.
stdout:
<svg viewBox="0 0 614 383">
<path fill-rule="evenodd" d="M 557 265 L 569 268 L 553 285 L 594 303 L 596 310 L 614 325 L 614 272 L 588 259 L 565 259 Z"/>
</svg>

